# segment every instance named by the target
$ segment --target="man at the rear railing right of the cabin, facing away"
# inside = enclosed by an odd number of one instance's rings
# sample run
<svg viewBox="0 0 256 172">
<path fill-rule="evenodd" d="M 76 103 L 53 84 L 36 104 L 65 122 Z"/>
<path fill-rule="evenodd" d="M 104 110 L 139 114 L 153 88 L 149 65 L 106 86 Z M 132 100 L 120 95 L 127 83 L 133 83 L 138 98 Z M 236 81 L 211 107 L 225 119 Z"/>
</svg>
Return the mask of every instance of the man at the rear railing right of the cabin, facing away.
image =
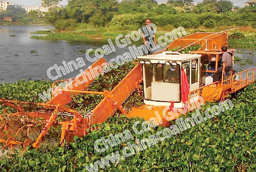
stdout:
<svg viewBox="0 0 256 172">
<path fill-rule="evenodd" d="M 223 46 L 221 47 L 221 51 L 223 52 L 222 55 L 222 69 L 218 69 L 218 71 L 213 75 L 213 81 L 218 81 L 221 79 L 222 73 L 230 71 L 232 67 L 232 57 L 227 52 L 227 47 Z"/>
</svg>

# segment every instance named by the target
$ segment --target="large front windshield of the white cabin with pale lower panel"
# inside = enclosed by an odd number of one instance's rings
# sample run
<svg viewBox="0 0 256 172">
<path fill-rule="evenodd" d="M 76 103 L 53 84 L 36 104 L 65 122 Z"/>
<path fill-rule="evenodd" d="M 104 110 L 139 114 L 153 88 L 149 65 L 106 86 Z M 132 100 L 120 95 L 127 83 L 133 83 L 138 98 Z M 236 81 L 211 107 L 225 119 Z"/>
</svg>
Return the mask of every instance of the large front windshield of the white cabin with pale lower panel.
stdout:
<svg viewBox="0 0 256 172">
<path fill-rule="evenodd" d="M 144 98 L 153 101 L 180 102 L 180 65 L 143 64 Z"/>
</svg>

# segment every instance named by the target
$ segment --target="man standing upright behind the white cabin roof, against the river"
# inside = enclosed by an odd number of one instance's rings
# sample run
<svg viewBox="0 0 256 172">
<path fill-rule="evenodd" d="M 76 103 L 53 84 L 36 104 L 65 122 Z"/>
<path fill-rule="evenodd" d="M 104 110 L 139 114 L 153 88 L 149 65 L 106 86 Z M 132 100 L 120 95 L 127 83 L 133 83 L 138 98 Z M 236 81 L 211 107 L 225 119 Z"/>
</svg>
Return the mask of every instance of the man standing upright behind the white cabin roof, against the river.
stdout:
<svg viewBox="0 0 256 172">
<path fill-rule="evenodd" d="M 151 19 L 146 19 L 146 26 L 141 29 L 143 45 L 146 46 L 148 52 L 144 52 L 144 55 L 153 54 L 154 45 L 156 45 L 156 36 L 154 29 L 151 27 Z"/>
</svg>

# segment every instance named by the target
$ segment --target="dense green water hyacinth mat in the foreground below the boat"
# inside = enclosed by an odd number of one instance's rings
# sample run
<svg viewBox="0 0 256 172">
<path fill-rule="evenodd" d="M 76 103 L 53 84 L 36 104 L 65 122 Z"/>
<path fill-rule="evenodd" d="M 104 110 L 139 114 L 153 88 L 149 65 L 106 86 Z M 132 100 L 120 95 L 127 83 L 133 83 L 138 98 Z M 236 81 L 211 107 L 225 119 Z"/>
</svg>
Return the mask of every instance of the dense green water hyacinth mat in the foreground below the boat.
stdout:
<svg viewBox="0 0 256 172">
<path fill-rule="evenodd" d="M 101 171 L 237 171 L 253 172 L 255 164 L 256 83 L 246 87 L 232 99 L 234 107 L 212 119 L 173 135 L 156 145 L 111 164 Z M 207 103 L 201 112 L 215 103 Z M 192 113 L 188 113 L 190 116 Z M 129 129 L 135 139 L 147 138 L 162 127 L 133 133 L 132 124 L 141 119 L 113 116 L 86 137 L 75 138 L 73 143 L 54 150 L 30 149 L 22 155 L 14 154 L 0 161 L 2 171 L 87 171 L 85 166 L 116 150 L 122 143 L 103 153 L 94 150 L 94 142 Z M 173 123 L 173 122 L 172 122 Z M 110 128 L 110 130 L 109 130 Z M 134 140 L 134 141 L 133 141 Z"/>
</svg>

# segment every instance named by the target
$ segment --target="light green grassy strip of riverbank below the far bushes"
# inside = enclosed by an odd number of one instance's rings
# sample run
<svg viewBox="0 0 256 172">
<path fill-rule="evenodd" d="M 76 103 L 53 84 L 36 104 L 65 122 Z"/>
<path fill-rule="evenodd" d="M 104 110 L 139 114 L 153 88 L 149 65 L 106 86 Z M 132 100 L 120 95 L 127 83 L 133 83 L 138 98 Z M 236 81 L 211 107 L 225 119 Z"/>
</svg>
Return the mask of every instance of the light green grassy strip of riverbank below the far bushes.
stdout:
<svg viewBox="0 0 256 172">
<path fill-rule="evenodd" d="M 223 30 L 235 28 L 233 27 L 220 27 L 220 28 L 205 28 L 200 27 L 197 29 L 186 29 L 187 34 L 194 32 L 220 32 Z M 138 29 L 138 28 L 136 28 Z M 96 41 L 96 42 L 105 42 L 108 38 L 115 40 L 115 38 L 122 34 L 127 35 L 131 34 L 132 26 L 123 26 L 123 27 L 98 27 L 91 29 L 81 29 L 69 32 L 55 32 L 55 31 L 37 31 L 32 34 L 47 34 L 46 36 L 32 36 L 32 39 L 46 39 L 46 40 L 72 40 L 72 41 Z M 174 27 L 168 25 L 165 27 L 159 27 L 156 32 L 156 38 L 159 38 L 161 35 L 164 35 L 167 32 L 175 29 Z M 256 47 L 256 29 L 252 27 L 239 27 L 237 30 L 229 32 L 229 35 L 232 35 L 234 32 L 241 32 L 244 34 L 244 37 L 241 38 L 230 38 L 229 46 L 234 48 L 255 48 Z M 137 41 L 141 43 L 142 39 Z"/>
</svg>

